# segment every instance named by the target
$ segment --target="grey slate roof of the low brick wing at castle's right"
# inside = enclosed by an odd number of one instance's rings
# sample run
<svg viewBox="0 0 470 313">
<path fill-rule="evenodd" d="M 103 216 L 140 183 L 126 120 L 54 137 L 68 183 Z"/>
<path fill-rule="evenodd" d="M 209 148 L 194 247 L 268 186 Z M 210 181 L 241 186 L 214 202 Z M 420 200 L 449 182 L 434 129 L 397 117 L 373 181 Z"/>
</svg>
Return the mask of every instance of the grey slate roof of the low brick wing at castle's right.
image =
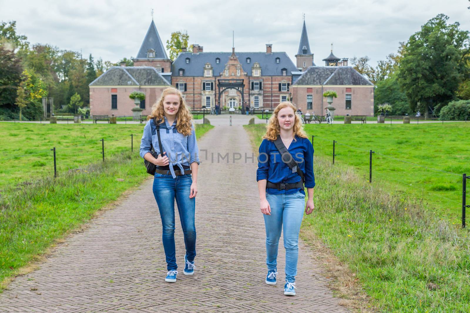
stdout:
<svg viewBox="0 0 470 313">
<path fill-rule="evenodd" d="M 367 78 L 350 66 L 311 66 L 294 85 L 370 85 Z"/>
</svg>

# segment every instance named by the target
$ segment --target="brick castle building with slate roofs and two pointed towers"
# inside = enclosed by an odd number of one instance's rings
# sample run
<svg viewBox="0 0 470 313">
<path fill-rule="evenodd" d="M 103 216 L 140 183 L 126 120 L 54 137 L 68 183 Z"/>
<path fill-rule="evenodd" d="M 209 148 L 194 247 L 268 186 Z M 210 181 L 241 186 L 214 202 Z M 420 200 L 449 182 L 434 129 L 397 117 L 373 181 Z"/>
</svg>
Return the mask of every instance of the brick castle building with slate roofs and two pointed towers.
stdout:
<svg viewBox="0 0 470 313">
<path fill-rule="evenodd" d="M 133 67 L 112 67 L 90 85 L 92 115 L 131 115 L 134 107 L 129 94 L 146 93 L 142 115 L 151 111 L 164 88 L 180 90 L 192 109 L 239 108 L 273 109 L 280 102 L 291 100 L 303 112 L 322 114 L 325 90 L 335 90 L 338 98 L 333 106 L 336 114 L 373 115 L 373 84 L 347 59 L 334 56 L 333 50 L 324 59 L 325 67 L 313 61 L 305 21 L 303 23 L 296 65 L 285 52 L 273 52 L 266 44 L 264 52 L 204 52 L 194 44 L 171 62 L 158 35 L 155 23 L 142 41 Z M 326 107 L 326 106 L 325 106 Z M 324 113 L 323 113 L 324 114 Z"/>
</svg>

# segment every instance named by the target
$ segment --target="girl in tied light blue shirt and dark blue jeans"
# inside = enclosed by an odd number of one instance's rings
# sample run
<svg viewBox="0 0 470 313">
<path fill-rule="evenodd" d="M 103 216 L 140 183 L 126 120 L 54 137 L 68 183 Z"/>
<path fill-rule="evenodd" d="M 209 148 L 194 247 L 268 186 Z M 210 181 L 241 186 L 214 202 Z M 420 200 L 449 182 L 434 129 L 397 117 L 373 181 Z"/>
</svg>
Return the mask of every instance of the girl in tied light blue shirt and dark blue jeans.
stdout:
<svg viewBox="0 0 470 313">
<path fill-rule="evenodd" d="M 193 275 L 195 269 L 194 217 L 199 152 L 192 118 L 181 92 L 172 87 L 167 88 L 153 105 L 151 115 L 147 116 L 148 121 L 141 140 L 141 157 L 157 165 L 153 194 L 163 225 L 162 241 L 168 270 L 166 282 L 176 282 L 178 274 L 174 240 L 175 199 L 186 246 L 183 274 Z M 157 132 L 160 133 L 163 151 L 159 148 Z M 155 149 L 157 158 L 150 153 L 151 146 Z"/>
</svg>

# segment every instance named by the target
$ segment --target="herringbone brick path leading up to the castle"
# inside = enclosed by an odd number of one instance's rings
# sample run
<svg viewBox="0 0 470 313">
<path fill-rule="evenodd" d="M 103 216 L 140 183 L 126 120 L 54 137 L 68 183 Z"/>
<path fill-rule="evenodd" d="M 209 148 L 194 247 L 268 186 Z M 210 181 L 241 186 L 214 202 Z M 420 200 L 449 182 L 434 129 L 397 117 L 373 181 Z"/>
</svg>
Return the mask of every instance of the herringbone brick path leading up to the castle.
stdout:
<svg viewBox="0 0 470 313">
<path fill-rule="evenodd" d="M 0 312 L 348 312 L 300 244 L 297 296 L 265 284 L 265 233 L 258 209 L 256 162 L 217 163 L 217 153 L 251 155 L 242 126 L 217 126 L 199 141 L 196 273 L 182 275 L 184 243 L 176 225 L 176 283 L 165 283 L 161 222 L 152 181 L 67 239 L 41 268 L 0 294 Z M 210 164 L 214 152 L 216 163 Z M 142 167 L 143 170 L 143 167 Z M 176 205 L 175 205 L 176 207 Z"/>
</svg>

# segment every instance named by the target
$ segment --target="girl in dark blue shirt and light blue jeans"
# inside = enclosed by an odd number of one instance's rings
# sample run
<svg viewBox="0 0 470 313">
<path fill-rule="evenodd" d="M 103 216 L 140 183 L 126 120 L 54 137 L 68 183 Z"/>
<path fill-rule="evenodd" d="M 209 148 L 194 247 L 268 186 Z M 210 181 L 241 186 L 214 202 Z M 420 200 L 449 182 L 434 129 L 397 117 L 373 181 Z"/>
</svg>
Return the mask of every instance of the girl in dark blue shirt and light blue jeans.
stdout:
<svg viewBox="0 0 470 313">
<path fill-rule="evenodd" d="M 286 284 L 284 295 L 295 296 L 295 276 L 298 261 L 298 234 L 305 213 L 314 209 L 313 187 L 313 146 L 303 129 L 297 108 L 291 102 L 282 102 L 269 120 L 266 135 L 259 146 L 258 170 L 256 179 L 260 199 L 260 209 L 264 214 L 266 227 L 266 283 L 276 284 L 277 251 L 281 230 L 284 230 L 286 249 Z M 274 141 L 280 137 L 288 153 L 281 157 Z M 290 155 L 290 156 L 289 156 Z M 290 158 L 297 162 L 303 178 L 287 162 Z M 305 181 L 304 181 L 305 180 Z M 305 191 L 308 200 L 305 206 Z"/>
</svg>

